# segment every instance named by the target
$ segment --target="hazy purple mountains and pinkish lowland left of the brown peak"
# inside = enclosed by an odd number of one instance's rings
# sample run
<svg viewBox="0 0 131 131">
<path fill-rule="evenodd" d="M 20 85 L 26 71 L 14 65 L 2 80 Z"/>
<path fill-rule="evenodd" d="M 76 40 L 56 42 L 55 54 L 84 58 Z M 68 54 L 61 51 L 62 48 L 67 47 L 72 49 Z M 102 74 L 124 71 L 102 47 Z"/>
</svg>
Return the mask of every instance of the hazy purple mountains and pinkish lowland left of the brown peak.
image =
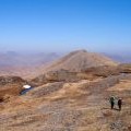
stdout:
<svg viewBox="0 0 131 131">
<path fill-rule="evenodd" d="M 17 75 L 32 78 L 37 75 L 40 66 L 45 66 L 61 55 L 56 52 L 45 53 L 17 53 L 8 51 L 0 53 L 0 75 Z M 39 73 L 38 73 L 39 74 Z"/>
</svg>

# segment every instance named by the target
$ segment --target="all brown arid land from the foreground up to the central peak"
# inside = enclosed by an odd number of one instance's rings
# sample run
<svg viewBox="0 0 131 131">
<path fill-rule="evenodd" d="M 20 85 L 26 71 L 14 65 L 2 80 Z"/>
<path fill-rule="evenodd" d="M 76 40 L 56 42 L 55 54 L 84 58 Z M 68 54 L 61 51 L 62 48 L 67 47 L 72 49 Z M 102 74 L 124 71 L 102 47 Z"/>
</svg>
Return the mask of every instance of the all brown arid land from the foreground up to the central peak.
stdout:
<svg viewBox="0 0 131 131">
<path fill-rule="evenodd" d="M 55 62 L 58 69 L 51 67 L 29 81 L 0 76 L 1 131 L 131 131 L 131 66 L 94 53 L 90 66 L 86 55 L 84 50 L 72 52 L 71 58 Z M 86 68 L 80 62 L 79 70 L 72 70 L 74 58 L 84 60 Z M 34 88 L 20 95 L 24 84 Z M 110 109 L 110 96 L 122 98 L 121 111 L 117 103 Z"/>
</svg>

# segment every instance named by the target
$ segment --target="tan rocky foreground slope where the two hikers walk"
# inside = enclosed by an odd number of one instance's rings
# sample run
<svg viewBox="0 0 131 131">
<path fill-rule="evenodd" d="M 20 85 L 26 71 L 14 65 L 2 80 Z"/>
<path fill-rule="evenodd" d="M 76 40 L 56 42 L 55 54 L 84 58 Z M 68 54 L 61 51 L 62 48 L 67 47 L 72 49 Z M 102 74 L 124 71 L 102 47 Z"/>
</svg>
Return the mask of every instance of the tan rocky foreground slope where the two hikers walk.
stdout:
<svg viewBox="0 0 131 131">
<path fill-rule="evenodd" d="M 112 95 L 123 99 L 121 111 L 110 109 Z M 131 131 L 130 98 L 130 74 L 48 83 L 1 103 L 0 130 Z"/>
</svg>

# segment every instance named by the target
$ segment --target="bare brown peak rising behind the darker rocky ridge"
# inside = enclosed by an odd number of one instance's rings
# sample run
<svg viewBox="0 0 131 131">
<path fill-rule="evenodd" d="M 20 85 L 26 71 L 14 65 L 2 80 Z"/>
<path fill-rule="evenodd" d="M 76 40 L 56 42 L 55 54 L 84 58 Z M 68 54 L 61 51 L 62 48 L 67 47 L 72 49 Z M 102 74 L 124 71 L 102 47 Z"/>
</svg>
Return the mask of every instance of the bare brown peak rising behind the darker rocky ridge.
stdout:
<svg viewBox="0 0 131 131">
<path fill-rule="evenodd" d="M 86 50 L 76 50 L 52 62 L 44 71 L 47 72 L 64 69 L 68 71 L 78 72 L 91 67 L 117 66 L 117 64 L 118 62 L 100 53 L 87 52 Z"/>
</svg>

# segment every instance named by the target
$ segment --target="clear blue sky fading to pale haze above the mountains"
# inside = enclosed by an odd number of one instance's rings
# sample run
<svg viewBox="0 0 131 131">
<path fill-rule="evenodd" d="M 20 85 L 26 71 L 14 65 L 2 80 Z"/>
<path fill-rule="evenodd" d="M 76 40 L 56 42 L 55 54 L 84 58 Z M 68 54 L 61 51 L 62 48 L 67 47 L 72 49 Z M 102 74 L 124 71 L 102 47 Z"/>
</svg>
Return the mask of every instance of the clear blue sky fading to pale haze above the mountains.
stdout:
<svg viewBox="0 0 131 131">
<path fill-rule="evenodd" d="M 0 50 L 131 50 L 131 0 L 0 0 Z"/>
</svg>

